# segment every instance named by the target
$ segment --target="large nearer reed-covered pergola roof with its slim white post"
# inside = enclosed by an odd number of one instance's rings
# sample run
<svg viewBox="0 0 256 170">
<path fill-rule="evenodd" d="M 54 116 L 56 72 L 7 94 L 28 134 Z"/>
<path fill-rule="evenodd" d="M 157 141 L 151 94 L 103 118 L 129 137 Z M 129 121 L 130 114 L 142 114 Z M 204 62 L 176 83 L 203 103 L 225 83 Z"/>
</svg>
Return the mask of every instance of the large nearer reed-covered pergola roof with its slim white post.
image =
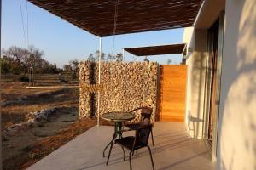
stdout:
<svg viewBox="0 0 256 170">
<path fill-rule="evenodd" d="M 202 0 L 28 0 L 100 37 L 193 26 Z M 99 56 L 99 73 L 101 56 Z M 99 74 L 100 83 L 100 74 Z M 98 102 L 99 102 L 98 97 Z M 98 105 L 99 114 L 99 105 Z M 99 118 L 99 115 L 98 115 Z"/>
</svg>

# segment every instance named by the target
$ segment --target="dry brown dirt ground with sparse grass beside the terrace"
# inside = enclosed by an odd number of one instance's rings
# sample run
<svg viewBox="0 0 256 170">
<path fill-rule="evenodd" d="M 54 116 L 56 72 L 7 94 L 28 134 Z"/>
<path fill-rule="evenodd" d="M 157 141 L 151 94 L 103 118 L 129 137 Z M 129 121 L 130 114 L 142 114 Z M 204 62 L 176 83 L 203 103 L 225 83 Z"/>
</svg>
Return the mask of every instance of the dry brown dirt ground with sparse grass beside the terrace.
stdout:
<svg viewBox="0 0 256 170">
<path fill-rule="evenodd" d="M 42 82 L 38 85 L 60 85 L 58 81 Z M 78 82 L 70 84 L 78 85 Z M 25 169 L 96 125 L 95 119 L 79 120 L 79 88 L 28 89 L 27 85 L 24 82 L 1 81 L 1 103 L 19 101 L 1 106 L 3 169 Z M 26 122 L 30 112 L 49 108 L 56 110 L 50 120 L 6 131 L 16 123 Z"/>
</svg>

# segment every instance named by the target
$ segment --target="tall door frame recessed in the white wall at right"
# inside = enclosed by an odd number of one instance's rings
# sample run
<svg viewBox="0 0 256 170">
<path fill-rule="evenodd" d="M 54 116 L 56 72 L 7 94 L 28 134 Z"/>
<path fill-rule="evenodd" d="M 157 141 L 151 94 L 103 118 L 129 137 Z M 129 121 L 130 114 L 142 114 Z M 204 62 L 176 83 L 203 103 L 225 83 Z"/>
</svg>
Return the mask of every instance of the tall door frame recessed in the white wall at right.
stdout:
<svg viewBox="0 0 256 170">
<path fill-rule="evenodd" d="M 222 59 L 223 59 L 223 46 L 224 46 L 224 11 L 222 11 L 218 20 L 218 56 L 217 56 L 217 71 L 216 71 L 216 102 L 215 102 L 215 122 L 213 122 L 212 132 L 212 146 L 206 142 L 207 148 L 212 151 L 212 162 L 217 160 L 217 145 L 218 145 L 218 114 L 219 114 L 219 101 L 220 101 L 220 89 L 221 89 L 221 74 L 222 74 Z M 214 24 L 216 24 L 214 22 Z M 212 26 L 214 26 L 214 24 Z M 211 28 L 212 28 L 211 26 Z M 210 29 L 209 29 L 210 30 Z M 207 72 L 206 72 L 206 84 L 205 84 L 205 102 L 204 102 L 204 139 L 208 138 L 209 127 L 209 112 L 211 102 L 211 90 L 212 90 L 212 38 L 208 34 L 208 53 L 207 53 Z"/>
</svg>

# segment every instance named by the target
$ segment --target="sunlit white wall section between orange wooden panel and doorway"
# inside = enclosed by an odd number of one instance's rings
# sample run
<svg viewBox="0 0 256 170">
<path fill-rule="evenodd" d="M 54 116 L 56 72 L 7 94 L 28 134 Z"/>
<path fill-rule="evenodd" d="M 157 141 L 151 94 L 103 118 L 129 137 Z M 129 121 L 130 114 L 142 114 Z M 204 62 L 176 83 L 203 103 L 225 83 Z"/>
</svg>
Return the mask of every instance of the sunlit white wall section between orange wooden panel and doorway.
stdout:
<svg viewBox="0 0 256 170">
<path fill-rule="evenodd" d="M 193 138 L 203 137 L 203 105 L 207 59 L 207 31 L 186 28 L 183 42 L 193 49 L 187 56 L 188 65 L 185 124 Z"/>
</svg>

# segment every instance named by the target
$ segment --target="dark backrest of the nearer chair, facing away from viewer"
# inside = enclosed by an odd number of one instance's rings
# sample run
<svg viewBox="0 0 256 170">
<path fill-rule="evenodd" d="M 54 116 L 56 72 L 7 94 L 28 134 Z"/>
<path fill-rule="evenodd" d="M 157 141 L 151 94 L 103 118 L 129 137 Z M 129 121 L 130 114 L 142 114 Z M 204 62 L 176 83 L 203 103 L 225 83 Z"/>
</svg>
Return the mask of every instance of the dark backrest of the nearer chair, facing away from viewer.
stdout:
<svg viewBox="0 0 256 170">
<path fill-rule="evenodd" d="M 135 147 L 148 145 L 149 134 L 152 129 L 152 124 L 144 125 L 136 130 Z"/>
</svg>

